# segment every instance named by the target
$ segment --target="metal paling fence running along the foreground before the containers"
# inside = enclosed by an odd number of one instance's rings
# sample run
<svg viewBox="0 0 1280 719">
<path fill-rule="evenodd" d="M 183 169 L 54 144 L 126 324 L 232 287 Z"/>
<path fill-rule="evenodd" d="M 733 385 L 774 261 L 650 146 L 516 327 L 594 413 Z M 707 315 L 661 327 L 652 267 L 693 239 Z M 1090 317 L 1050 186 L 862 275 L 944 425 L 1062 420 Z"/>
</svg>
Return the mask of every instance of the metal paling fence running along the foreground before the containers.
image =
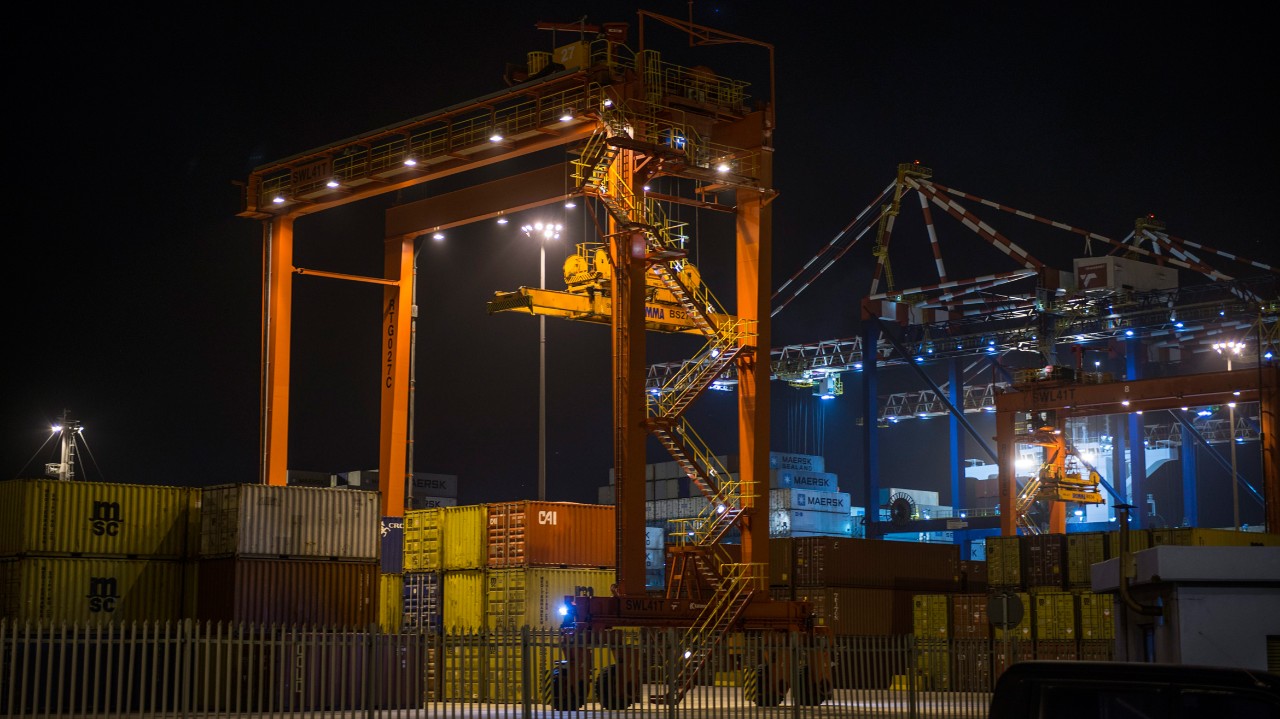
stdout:
<svg viewBox="0 0 1280 719">
<path fill-rule="evenodd" d="M 709 650 L 682 691 L 678 669 L 704 647 L 681 646 L 680 638 L 676 631 L 566 640 L 530 628 L 388 633 L 0 620 L 0 710 L 136 718 L 986 718 L 998 672 L 1036 655 L 1029 641 L 884 636 L 814 644 L 737 633 Z"/>
</svg>

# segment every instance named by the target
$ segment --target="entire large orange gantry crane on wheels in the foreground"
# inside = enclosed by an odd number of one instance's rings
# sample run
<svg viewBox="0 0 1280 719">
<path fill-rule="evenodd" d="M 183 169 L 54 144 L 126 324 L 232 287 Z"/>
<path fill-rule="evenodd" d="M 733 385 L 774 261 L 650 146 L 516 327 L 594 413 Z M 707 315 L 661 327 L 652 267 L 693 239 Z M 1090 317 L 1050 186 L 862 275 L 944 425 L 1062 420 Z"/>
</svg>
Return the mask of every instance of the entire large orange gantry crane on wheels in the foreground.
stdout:
<svg viewBox="0 0 1280 719">
<path fill-rule="evenodd" d="M 667 63 L 645 47 L 645 20 L 687 36 L 690 46 L 772 46 L 664 15 L 639 13 L 639 43 L 627 23 L 572 31 L 572 42 L 530 52 L 525 68 L 507 68 L 507 88 L 435 114 L 390 125 L 260 166 L 243 189 L 243 217 L 264 226 L 261 481 L 285 484 L 288 446 L 292 283 L 300 276 L 362 281 L 383 288 L 385 356 L 380 490 L 385 517 L 403 516 L 403 477 L 412 471 L 410 344 L 417 308 L 412 257 L 417 238 L 571 197 L 603 209 L 599 238 L 566 264 L 568 290 L 559 297 L 498 293 L 490 311 L 573 316 L 584 306 L 609 317 L 614 386 L 613 446 L 617 482 L 617 583 L 611 596 L 564 597 L 563 663 L 545 677 L 545 701 L 579 709 L 590 691 L 611 707 L 641 701 L 641 679 L 658 658 L 614 652 L 609 667 L 581 638 L 595 632 L 676 632 L 682 649 L 662 658 L 673 673 L 649 701 L 673 705 L 694 686 L 724 638 L 759 632 L 796 637 L 800 651 L 759 650 L 744 656 L 755 672 L 754 701 L 780 704 L 790 688 L 797 702 L 831 697 L 827 628 L 812 604 L 768 594 L 769 380 L 772 210 L 772 97 L 748 102 L 748 83 L 707 67 Z M 554 37 L 554 35 L 553 35 Z M 294 267 L 294 220 L 330 207 L 433 182 L 504 160 L 568 148 L 571 166 L 548 166 L 465 189 L 406 202 L 387 214 L 383 278 Z M 672 194 L 649 192 L 669 179 Z M 736 303 L 717 299 L 689 262 L 673 205 L 726 212 L 733 219 Z M 570 266 L 572 265 L 572 266 Z M 584 297 L 585 296 L 585 297 Z M 557 304 L 558 303 L 558 304 Z M 604 303 L 604 304 L 600 304 Z M 664 312 L 655 321 L 648 306 Z M 553 311 L 549 311 L 553 310 Z M 668 317 L 676 317 L 676 321 Z M 703 347 L 657 391 L 646 388 L 645 335 L 680 331 Z M 760 349 L 765 348 L 765 349 Z M 686 409 L 718 377 L 737 384 L 739 472 L 731 475 L 700 439 Z M 645 590 L 645 443 L 653 435 L 705 498 L 673 546 L 667 596 Z M 741 537 L 732 557 L 724 540 Z M 639 642 L 635 646 L 645 646 Z M 781 644 L 759 644 L 781 646 Z M 795 661 L 795 663 L 792 663 Z M 795 686 L 792 683 L 794 677 Z"/>
</svg>

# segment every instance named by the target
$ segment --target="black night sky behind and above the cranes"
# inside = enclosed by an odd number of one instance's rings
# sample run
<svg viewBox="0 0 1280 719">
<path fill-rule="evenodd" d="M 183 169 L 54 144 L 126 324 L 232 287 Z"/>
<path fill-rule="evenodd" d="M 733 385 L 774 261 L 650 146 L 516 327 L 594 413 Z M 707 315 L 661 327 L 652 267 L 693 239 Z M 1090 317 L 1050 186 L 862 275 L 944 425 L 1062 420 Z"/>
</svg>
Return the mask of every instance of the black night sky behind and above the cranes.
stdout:
<svg viewBox="0 0 1280 719">
<path fill-rule="evenodd" d="M 41 475 L 52 461 L 41 449 L 47 427 L 67 409 L 86 426 L 90 480 L 256 481 L 262 235 L 234 215 L 232 183 L 503 90 L 507 63 L 572 40 L 535 29 L 539 20 L 631 22 L 635 40 L 635 5 L 433 5 L 32 10 L 47 17 L 26 23 L 36 29 L 10 51 L 22 58 L 9 73 L 6 162 L 19 221 L 5 281 L 0 477 Z M 1115 239 L 1155 214 L 1178 237 L 1280 262 L 1266 186 L 1275 73 L 1260 23 L 1138 5 L 1149 13 L 1132 4 L 1123 14 L 1091 4 L 640 8 L 681 19 L 691 8 L 698 23 L 774 47 L 774 285 L 915 160 L 941 184 Z M 677 31 L 645 28 L 664 59 L 691 58 L 768 99 L 763 47 L 691 51 Z M 301 220 L 294 265 L 379 275 L 385 209 L 444 188 L 417 189 Z M 566 237 L 547 257 L 553 288 L 584 241 L 581 216 L 563 221 Z M 705 223 L 707 256 L 695 261 L 714 278 L 732 235 L 708 232 L 714 220 L 690 221 Z M 1084 253 L 1076 235 L 1024 235 L 1007 215 L 992 221 L 1061 269 Z M 463 503 L 536 498 L 538 320 L 485 311 L 495 290 L 538 284 L 538 246 L 518 225 L 458 228 L 420 255 L 415 468 L 458 475 Z M 902 232 L 895 242 L 916 251 L 893 257 L 899 285 L 933 281 L 923 235 Z M 957 224 L 940 220 L 940 233 L 955 276 L 1015 269 Z M 869 251 L 867 241 L 788 304 L 773 345 L 854 336 Z M 289 466 L 374 468 L 380 290 L 319 278 L 294 288 Z M 547 326 L 548 498 L 594 502 L 612 466 L 608 329 Z M 650 362 L 698 347 L 669 339 L 652 340 Z M 920 386 L 904 374 L 882 381 L 886 391 Z M 827 403 L 773 385 L 771 448 L 827 455 L 846 491 L 860 481 L 855 384 Z M 733 407 L 732 394 L 710 393 L 691 413 L 724 454 L 736 452 Z M 884 432 L 881 485 L 943 489 L 945 427 Z"/>
</svg>

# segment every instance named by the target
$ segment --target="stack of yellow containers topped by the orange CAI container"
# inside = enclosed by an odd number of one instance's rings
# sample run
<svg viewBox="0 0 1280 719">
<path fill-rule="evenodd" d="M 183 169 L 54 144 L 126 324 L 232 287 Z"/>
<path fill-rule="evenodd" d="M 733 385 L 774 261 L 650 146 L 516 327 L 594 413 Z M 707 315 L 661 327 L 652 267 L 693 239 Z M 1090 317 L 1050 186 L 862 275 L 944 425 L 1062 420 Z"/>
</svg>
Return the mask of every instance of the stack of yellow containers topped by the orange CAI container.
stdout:
<svg viewBox="0 0 1280 719">
<path fill-rule="evenodd" d="M 424 632 L 513 633 L 559 626 L 564 597 L 608 594 L 614 508 L 506 502 L 404 513 L 402 623 Z M 431 696 L 520 701 L 518 654 L 451 642 Z M 436 676 L 433 664 L 431 676 Z"/>
</svg>

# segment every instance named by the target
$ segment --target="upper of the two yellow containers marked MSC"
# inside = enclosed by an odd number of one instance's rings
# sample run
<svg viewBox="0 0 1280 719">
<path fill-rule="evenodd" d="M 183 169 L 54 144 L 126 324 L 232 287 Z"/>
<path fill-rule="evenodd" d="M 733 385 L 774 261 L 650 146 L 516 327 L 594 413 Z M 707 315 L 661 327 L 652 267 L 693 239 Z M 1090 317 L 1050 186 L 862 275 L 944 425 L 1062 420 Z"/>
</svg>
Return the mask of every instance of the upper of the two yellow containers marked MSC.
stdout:
<svg viewBox="0 0 1280 719">
<path fill-rule="evenodd" d="M 182 559 L 191 487 L 8 480 L 0 482 L 0 557 Z"/>
</svg>

